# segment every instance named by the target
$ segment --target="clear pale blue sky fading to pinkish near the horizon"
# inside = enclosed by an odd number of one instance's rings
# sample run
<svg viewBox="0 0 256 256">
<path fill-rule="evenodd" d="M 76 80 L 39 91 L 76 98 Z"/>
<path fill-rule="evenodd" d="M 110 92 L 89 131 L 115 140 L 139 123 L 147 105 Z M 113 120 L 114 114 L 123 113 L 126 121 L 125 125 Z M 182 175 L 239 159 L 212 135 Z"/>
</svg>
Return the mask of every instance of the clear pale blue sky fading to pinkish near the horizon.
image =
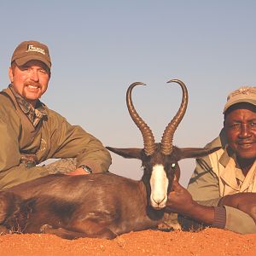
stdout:
<svg viewBox="0 0 256 256">
<path fill-rule="evenodd" d="M 126 89 L 147 84 L 133 90 L 133 102 L 160 141 L 181 100 L 178 85 L 166 81 L 181 79 L 189 107 L 174 144 L 203 147 L 218 136 L 230 91 L 256 84 L 255 13 L 254 0 L 3 0 L 1 89 L 17 44 L 41 41 L 53 62 L 42 101 L 106 146 L 142 148 Z M 138 179 L 140 164 L 113 155 L 110 171 Z M 186 185 L 195 160 L 180 165 Z"/>
</svg>

